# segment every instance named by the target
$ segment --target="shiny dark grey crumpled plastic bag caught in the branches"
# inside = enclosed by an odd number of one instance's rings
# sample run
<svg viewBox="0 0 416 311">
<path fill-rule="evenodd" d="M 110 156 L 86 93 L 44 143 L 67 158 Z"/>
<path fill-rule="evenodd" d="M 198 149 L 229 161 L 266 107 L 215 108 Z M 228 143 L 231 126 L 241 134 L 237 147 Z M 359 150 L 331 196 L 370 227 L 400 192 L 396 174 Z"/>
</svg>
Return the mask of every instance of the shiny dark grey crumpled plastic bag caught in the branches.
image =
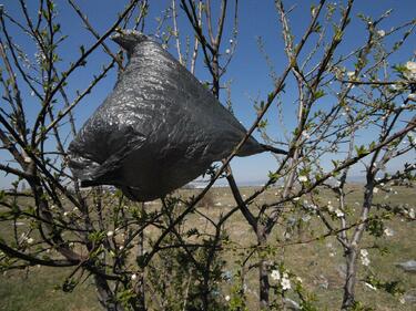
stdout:
<svg viewBox="0 0 416 311">
<path fill-rule="evenodd" d="M 81 186 L 114 185 L 152 200 L 226 157 L 246 129 L 159 43 L 136 31 L 112 39 L 129 63 L 70 144 L 69 166 Z M 237 155 L 264 151 L 250 137 Z"/>
</svg>

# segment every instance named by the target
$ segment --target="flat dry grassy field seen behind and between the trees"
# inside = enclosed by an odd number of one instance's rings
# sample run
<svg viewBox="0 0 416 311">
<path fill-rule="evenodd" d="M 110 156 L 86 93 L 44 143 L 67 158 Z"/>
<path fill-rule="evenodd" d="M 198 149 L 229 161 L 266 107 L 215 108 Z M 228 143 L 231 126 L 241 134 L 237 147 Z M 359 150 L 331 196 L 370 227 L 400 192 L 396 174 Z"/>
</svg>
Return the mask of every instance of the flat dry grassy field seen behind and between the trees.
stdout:
<svg viewBox="0 0 416 311">
<path fill-rule="evenodd" d="M 362 186 L 353 185 L 349 187 L 353 193 L 348 197 L 351 205 L 361 203 Z M 242 193 L 248 196 L 254 188 L 242 188 Z M 395 187 L 397 194 L 388 198 L 393 204 L 407 204 L 416 208 L 415 188 Z M 182 195 L 193 194 L 196 190 L 183 190 Z M 275 196 L 276 189 L 270 189 L 258 199 L 258 204 L 270 201 Z M 211 190 L 212 200 L 206 207 L 200 207 L 200 210 L 212 217 L 230 210 L 234 206 L 233 197 L 227 188 L 213 188 Z M 385 194 L 379 194 L 376 200 L 384 200 Z M 322 193 L 322 200 L 333 199 L 327 191 Z M 158 208 L 155 203 L 149 208 Z M 255 207 L 252 207 L 255 208 Z M 293 214 L 290 217 L 301 217 Z M 203 228 L 206 226 L 205 220 L 197 215 L 189 218 L 193 226 Z M 284 240 L 285 224 L 288 218 L 281 219 L 274 236 L 271 238 L 271 245 Z M 3 225 L 2 225 L 3 226 Z M 415 274 L 404 272 L 395 266 L 396 262 L 416 260 L 416 221 L 406 221 L 394 219 L 386 221 L 386 227 L 394 231 L 392 237 L 377 239 L 381 247 L 389 249 L 388 253 L 381 255 L 377 250 L 369 251 L 372 269 L 383 280 L 400 280 L 406 290 L 416 296 L 416 277 Z M 231 240 L 239 241 L 242 246 L 248 246 L 254 242 L 254 235 L 246 225 L 240 212 L 227 222 L 226 229 Z M 1 235 L 9 232 L 10 228 L 0 227 Z M 302 230 L 291 232 L 292 241 L 307 240 L 323 232 L 323 225 L 318 219 L 311 219 L 305 222 Z M 242 237 L 244 237 L 242 239 Z M 374 238 L 366 238 L 364 247 L 374 245 Z M 233 272 L 233 262 L 235 258 L 232 253 L 224 253 L 227 261 L 227 269 Z M 286 246 L 280 248 L 276 253 L 276 260 L 284 260 L 285 266 L 295 271 L 303 279 L 303 283 L 311 292 L 316 293 L 317 303 L 321 310 L 338 310 L 342 299 L 343 287 L 343 252 L 333 237 L 311 242 Z M 95 299 L 94 287 L 90 280 L 80 284 L 74 292 L 63 293 L 54 289 L 62 284 L 69 270 L 38 268 L 32 267 L 26 271 L 10 271 L 0 276 L 0 310 L 4 311 L 49 311 L 49 310 L 100 310 Z M 250 272 L 247 282 L 247 299 L 251 310 L 256 309 L 256 271 Z M 231 283 L 224 282 L 223 294 L 227 294 Z M 366 287 L 363 282 L 357 286 L 357 299 L 375 310 L 416 310 L 416 304 L 399 303 L 397 298 L 375 291 Z M 291 294 L 288 294 L 291 297 Z"/>
</svg>

